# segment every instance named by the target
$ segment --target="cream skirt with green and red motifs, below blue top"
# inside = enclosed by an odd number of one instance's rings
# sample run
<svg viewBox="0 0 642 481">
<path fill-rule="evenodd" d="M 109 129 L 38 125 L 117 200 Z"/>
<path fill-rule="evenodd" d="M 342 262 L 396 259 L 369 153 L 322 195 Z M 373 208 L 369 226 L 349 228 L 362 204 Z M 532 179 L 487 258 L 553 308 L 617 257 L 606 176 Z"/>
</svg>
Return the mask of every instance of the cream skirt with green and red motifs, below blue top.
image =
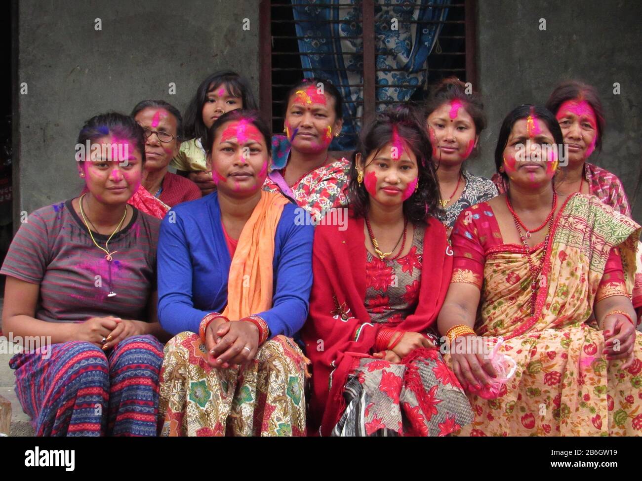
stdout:
<svg viewBox="0 0 642 481">
<path fill-rule="evenodd" d="M 307 359 L 276 336 L 241 369 L 207 363 L 205 345 L 184 332 L 165 346 L 160 372 L 161 436 L 304 436 Z"/>
</svg>

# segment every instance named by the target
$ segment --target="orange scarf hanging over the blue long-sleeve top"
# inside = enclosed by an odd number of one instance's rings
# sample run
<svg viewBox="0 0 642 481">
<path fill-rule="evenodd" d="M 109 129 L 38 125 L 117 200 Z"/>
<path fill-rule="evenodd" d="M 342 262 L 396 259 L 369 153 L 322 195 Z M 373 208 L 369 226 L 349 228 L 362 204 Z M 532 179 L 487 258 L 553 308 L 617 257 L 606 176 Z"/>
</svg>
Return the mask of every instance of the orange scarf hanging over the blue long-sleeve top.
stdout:
<svg viewBox="0 0 642 481">
<path fill-rule="evenodd" d="M 223 311 L 228 319 L 243 319 L 272 308 L 274 234 L 288 203 L 281 194 L 261 191 L 261 200 L 241 231 L 230 265 Z"/>
</svg>

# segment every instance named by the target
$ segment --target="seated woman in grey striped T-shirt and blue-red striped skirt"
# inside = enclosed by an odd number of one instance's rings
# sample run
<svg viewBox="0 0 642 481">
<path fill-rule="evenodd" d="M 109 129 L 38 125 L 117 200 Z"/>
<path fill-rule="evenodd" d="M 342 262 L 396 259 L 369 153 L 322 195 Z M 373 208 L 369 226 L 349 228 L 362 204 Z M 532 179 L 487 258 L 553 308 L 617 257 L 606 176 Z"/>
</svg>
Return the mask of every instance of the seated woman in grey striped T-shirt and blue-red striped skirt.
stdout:
<svg viewBox="0 0 642 481">
<path fill-rule="evenodd" d="M 0 270 L 4 332 L 52 343 L 13 356 L 15 390 L 37 435 L 153 436 L 166 338 L 154 292 L 160 221 L 127 203 L 143 175 L 143 129 L 99 115 L 78 144 L 92 147 L 77 158 L 86 193 L 32 213 Z"/>
</svg>

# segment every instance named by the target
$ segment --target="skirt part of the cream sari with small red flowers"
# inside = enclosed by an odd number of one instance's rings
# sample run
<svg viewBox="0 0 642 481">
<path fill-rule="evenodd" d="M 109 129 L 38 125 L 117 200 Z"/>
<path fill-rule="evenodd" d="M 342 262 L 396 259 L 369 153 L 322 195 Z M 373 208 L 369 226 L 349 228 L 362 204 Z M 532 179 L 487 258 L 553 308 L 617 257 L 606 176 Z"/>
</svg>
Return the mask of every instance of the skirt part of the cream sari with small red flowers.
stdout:
<svg viewBox="0 0 642 481">
<path fill-rule="evenodd" d="M 603 349 L 602 331 L 587 324 L 505 340 L 499 352 L 516 360 L 515 376 L 497 399 L 470 394 L 475 419 L 457 434 L 641 435 L 642 336 L 627 369 L 619 369 L 620 360 L 608 362 Z"/>
</svg>

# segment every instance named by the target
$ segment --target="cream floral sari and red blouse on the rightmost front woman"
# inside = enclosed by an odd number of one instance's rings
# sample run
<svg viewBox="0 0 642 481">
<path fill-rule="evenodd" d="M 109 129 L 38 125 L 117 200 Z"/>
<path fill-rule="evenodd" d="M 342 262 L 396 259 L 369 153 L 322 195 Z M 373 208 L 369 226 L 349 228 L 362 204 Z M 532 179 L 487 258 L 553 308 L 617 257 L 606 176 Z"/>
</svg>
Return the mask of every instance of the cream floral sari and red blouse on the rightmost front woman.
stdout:
<svg viewBox="0 0 642 481">
<path fill-rule="evenodd" d="M 521 246 L 503 244 L 487 203 L 464 211 L 453 230 L 452 283 L 481 290 L 478 335 L 517 362 L 515 376 L 490 401 L 469 394 L 475 420 L 462 435 L 639 435 L 642 433 L 642 337 L 627 369 L 602 355 L 594 302 L 631 297 L 638 224 L 589 195 L 560 209 L 544 259 L 535 314 Z M 536 262 L 537 262 L 536 261 Z"/>
</svg>

